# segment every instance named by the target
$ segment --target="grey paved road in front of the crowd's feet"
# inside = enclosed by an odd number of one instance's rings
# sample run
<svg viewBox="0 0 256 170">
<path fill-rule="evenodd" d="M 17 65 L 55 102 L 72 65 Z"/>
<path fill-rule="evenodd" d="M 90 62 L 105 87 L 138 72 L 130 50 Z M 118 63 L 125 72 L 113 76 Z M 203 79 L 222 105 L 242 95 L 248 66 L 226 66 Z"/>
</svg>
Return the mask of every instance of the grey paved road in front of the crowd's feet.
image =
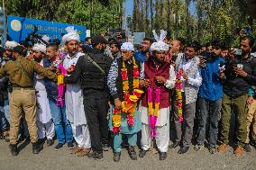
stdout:
<svg viewBox="0 0 256 170">
<path fill-rule="evenodd" d="M 39 155 L 32 154 L 31 144 L 27 146 L 21 144 L 20 148 L 22 150 L 19 156 L 12 157 L 8 144 L 5 140 L 0 140 L 0 170 L 256 169 L 255 148 L 252 148 L 251 153 L 245 153 L 243 157 L 235 157 L 232 148 L 229 148 L 227 153 L 215 155 L 209 154 L 206 148 L 198 152 L 190 148 L 186 155 L 177 154 L 178 148 L 170 149 L 165 161 L 160 161 L 153 151 L 147 153 L 146 157 L 139 157 L 137 161 L 133 161 L 123 148 L 119 163 L 114 163 L 112 150 L 105 152 L 102 160 L 94 160 L 69 154 L 70 150 L 67 146 L 55 151 L 53 146 L 46 147 L 45 145 Z"/>
</svg>

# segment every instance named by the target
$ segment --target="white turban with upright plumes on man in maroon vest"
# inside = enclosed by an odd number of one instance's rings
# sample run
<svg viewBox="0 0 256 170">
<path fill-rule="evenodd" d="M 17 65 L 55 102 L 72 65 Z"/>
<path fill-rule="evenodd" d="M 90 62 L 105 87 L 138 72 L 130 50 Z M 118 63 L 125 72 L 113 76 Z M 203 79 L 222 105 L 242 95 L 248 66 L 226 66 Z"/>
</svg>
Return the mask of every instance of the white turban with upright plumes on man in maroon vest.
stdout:
<svg viewBox="0 0 256 170">
<path fill-rule="evenodd" d="M 153 34 L 154 34 L 154 38 L 155 40 L 157 40 L 157 42 L 154 42 L 151 44 L 151 48 L 150 48 L 150 51 L 160 51 L 160 50 L 163 50 L 163 51 L 167 51 L 169 50 L 169 44 L 165 43 L 163 40 L 165 39 L 166 35 L 167 35 L 167 31 L 164 31 L 164 30 L 160 30 L 160 36 L 157 35 L 156 31 L 153 30 L 152 31 Z"/>
</svg>

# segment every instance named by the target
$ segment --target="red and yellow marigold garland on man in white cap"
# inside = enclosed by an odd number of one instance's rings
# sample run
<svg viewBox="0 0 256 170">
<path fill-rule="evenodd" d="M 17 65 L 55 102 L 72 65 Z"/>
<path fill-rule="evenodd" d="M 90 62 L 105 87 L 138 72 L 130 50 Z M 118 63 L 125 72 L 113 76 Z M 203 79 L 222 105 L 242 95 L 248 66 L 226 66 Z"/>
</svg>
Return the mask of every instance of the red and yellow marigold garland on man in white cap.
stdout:
<svg viewBox="0 0 256 170">
<path fill-rule="evenodd" d="M 133 94 L 129 94 L 129 79 L 127 68 L 123 61 L 123 68 L 121 69 L 121 76 L 123 80 L 123 102 L 122 110 L 113 111 L 113 132 L 119 133 L 121 127 L 121 113 L 124 112 L 127 114 L 127 123 L 130 127 L 134 124 L 134 112 L 137 107 L 137 102 L 140 99 L 143 91 L 139 89 L 140 86 L 140 72 L 139 67 L 137 66 L 135 59 L 133 58 Z"/>
</svg>

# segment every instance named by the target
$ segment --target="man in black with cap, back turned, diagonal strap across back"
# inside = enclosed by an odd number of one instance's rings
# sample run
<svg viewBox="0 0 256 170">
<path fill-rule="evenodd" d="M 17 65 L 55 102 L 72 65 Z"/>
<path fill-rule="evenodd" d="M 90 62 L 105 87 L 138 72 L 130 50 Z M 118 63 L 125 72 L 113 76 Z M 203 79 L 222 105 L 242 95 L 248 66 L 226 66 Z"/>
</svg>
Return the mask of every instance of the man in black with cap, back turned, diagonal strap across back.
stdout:
<svg viewBox="0 0 256 170">
<path fill-rule="evenodd" d="M 106 40 L 102 36 L 92 38 L 93 48 L 88 56 L 78 58 L 78 63 L 71 76 L 64 78 L 65 83 L 76 83 L 81 78 L 84 95 L 84 107 L 91 137 L 93 153 L 88 157 L 103 158 L 103 148 L 108 144 L 108 87 L 106 76 L 112 59 L 103 52 Z"/>
</svg>

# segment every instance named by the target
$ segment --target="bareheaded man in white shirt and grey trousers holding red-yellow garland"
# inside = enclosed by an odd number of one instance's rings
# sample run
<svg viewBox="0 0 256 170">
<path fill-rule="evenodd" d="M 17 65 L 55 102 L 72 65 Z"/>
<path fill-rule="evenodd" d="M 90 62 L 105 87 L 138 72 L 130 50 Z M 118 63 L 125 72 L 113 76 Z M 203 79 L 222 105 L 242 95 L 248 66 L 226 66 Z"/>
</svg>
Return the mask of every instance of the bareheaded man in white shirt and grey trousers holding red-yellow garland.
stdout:
<svg viewBox="0 0 256 170">
<path fill-rule="evenodd" d="M 193 135 L 194 119 L 196 113 L 197 93 L 202 84 L 197 51 L 200 46 L 197 41 L 187 43 L 185 55 L 176 59 L 176 73 L 178 82 L 176 85 L 177 112 L 174 112 L 174 123 L 176 130 L 175 145 L 181 144 L 178 154 L 184 154 L 189 149 Z M 184 130 L 182 126 L 184 124 Z M 183 140 L 181 140 L 183 137 Z"/>
</svg>

